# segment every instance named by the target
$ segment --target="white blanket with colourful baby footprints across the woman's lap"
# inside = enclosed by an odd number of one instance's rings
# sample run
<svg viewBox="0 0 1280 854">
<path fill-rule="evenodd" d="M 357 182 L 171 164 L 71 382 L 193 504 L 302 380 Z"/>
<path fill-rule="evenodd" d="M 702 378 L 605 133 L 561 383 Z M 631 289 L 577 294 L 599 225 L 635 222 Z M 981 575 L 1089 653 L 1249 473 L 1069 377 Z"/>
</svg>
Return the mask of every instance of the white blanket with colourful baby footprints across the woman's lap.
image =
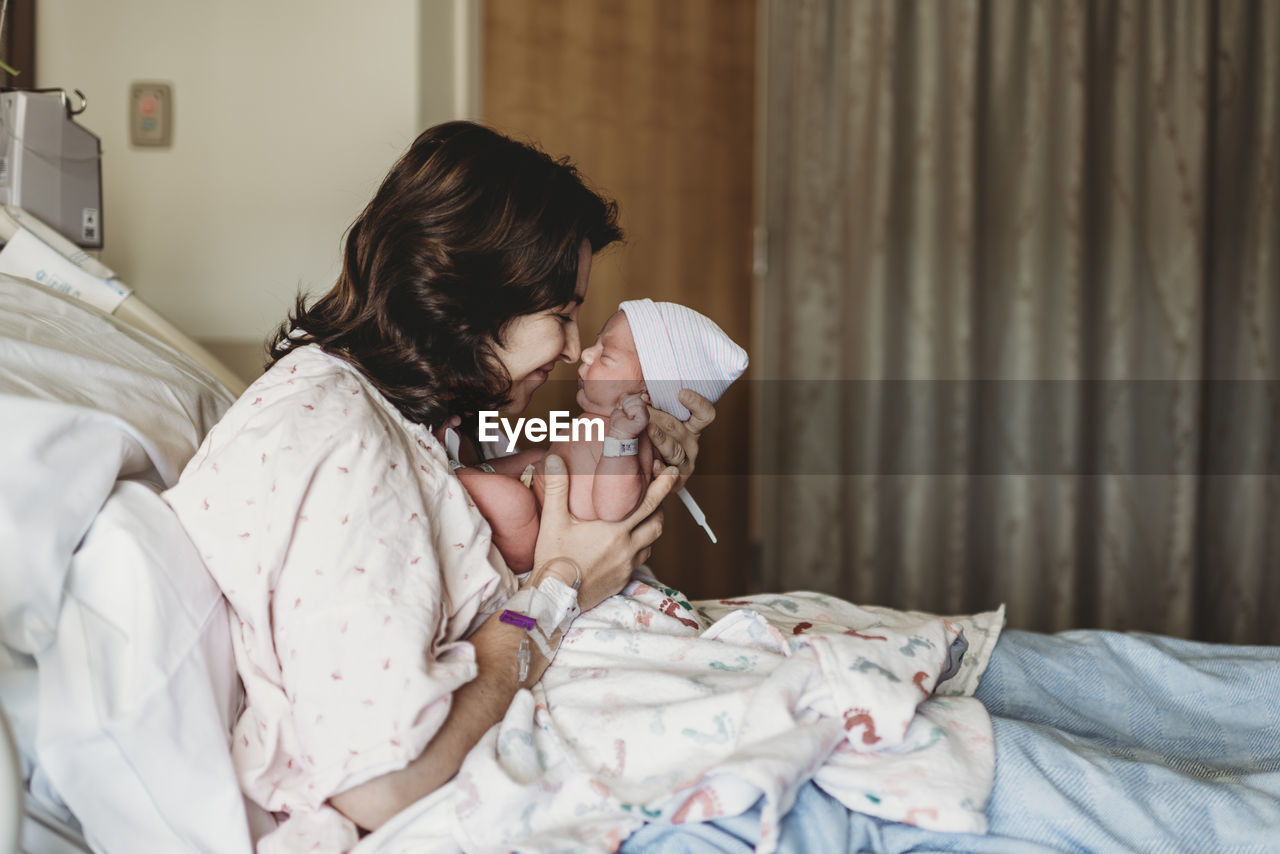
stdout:
<svg viewBox="0 0 1280 854">
<path fill-rule="evenodd" d="M 982 832 L 989 717 L 970 697 L 936 700 L 933 688 L 961 630 L 980 639 L 965 653 L 980 673 L 1002 618 L 948 621 L 812 593 L 690 603 L 632 583 L 579 617 L 530 713 L 513 702 L 468 754 L 456 826 L 475 849 L 603 853 L 645 821 L 790 803 L 817 780 L 890 821 Z"/>
</svg>

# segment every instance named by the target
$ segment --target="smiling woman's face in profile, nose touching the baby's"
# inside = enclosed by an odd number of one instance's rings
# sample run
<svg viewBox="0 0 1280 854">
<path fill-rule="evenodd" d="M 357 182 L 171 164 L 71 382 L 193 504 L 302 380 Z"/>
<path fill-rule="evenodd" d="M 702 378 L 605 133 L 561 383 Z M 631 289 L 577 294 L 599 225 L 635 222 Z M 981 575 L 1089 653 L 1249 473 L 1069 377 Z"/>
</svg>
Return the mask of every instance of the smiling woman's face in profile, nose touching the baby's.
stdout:
<svg viewBox="0 0 1280 854">
<path fill-rule="evenodd" d="M 498 361 L 511 378 L 511 403 L 507 412 L 524 412 L 534 392 L 547 382 L 556 362 L 573 364 L 582 352 L 577 333 L 577 311 L 586 298 L 591 278 L 591 243 L 582 241 L 577 257 L 577 284 L 573 298 L 563 306 L 520 315 L 507 324 L 495 348 Z"/>
</svg>

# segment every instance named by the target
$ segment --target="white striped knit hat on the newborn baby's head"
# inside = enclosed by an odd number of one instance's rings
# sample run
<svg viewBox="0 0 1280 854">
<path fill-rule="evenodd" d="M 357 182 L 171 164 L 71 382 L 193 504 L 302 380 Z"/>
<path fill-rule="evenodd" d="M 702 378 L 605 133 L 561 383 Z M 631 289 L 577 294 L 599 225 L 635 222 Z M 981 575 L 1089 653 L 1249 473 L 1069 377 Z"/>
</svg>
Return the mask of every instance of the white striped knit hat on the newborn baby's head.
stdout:
<svg viewBox="0 0 1280 854">
<path fill-rule="evenodd" d="M 631 325 L 640 370 L 653 405 L 684 421 L 680 389 L 714 403 L 746 370 L 746 351 L 710 318 L 676 302 L 628 300 L 618 306 Z"/>
</svg>

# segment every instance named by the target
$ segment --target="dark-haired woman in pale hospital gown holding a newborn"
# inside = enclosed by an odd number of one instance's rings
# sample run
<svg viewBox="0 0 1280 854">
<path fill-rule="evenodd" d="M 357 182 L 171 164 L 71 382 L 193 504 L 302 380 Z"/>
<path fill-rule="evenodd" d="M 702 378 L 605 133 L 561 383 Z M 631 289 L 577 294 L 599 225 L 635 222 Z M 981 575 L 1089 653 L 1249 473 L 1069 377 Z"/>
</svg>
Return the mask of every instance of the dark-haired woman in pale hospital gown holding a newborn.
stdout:
<svg viewBox="0 0 1280 854">
<path fill-rule="evenodd" d="M 337 284 L 298 300 L 166 493 L 233 611 L 237 771 L 287 814 L 269 848 L 349 846 L 434 791 L 549 663 L 495 616 L 518 583 L 433 429 L 474 435 L 477 411 L 520 412 L 577 361 L 591 257 L 620 238 L 567 161 L 470 123 L 428 129 L 352 225 Z M 714 419 L 681 399 L 687 423 L 650 412 L 663 476 L 621 522 L 572 519 L 548 460 L 526 585 L 576 584 L 588 609 L 645 561 Z"/>
</svg>

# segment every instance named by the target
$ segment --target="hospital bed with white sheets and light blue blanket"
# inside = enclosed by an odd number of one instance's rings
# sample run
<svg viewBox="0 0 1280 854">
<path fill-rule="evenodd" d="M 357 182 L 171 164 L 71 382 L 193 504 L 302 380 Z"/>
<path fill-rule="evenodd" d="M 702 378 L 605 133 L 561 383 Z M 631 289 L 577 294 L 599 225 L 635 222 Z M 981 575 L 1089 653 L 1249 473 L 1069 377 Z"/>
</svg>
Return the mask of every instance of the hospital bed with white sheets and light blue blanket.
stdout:
<svg viewBox="0 0 1280 854">
<path fill-rule="evenodd" d="M 6 248 L 35 236 L 88 274 L 72 287 L 49 256 L 0 274 L 0 853 L 250 851 L 269 818 L 230 764 L 225 606 L 159 498 L 242 383 L 22 211 L 0 230 Z M 1170 832 L 1185 841 L 1170 850 L 1280 850 L 1280 652 L 1107 632 L 1009 632 L 1001 647 L 979 689 L 1007 749 L 996 836 L 922 835 L 810 785 L 782 850 L 1170 849 Z M 1194 750 L 1148 755 L 1130 736 L 1153 727 Z M 1217 761 L 1194 758 L 1204 745 Z M 1203 814 L 1162 812 L 1188 791 Z M 1028 848 L 1032 821 L 1060 842 Z M 745 851 L 759 822 L 649 825 L 626 850 L 694 850 L 710 834 L 714 850 Z"/>
</svg>

